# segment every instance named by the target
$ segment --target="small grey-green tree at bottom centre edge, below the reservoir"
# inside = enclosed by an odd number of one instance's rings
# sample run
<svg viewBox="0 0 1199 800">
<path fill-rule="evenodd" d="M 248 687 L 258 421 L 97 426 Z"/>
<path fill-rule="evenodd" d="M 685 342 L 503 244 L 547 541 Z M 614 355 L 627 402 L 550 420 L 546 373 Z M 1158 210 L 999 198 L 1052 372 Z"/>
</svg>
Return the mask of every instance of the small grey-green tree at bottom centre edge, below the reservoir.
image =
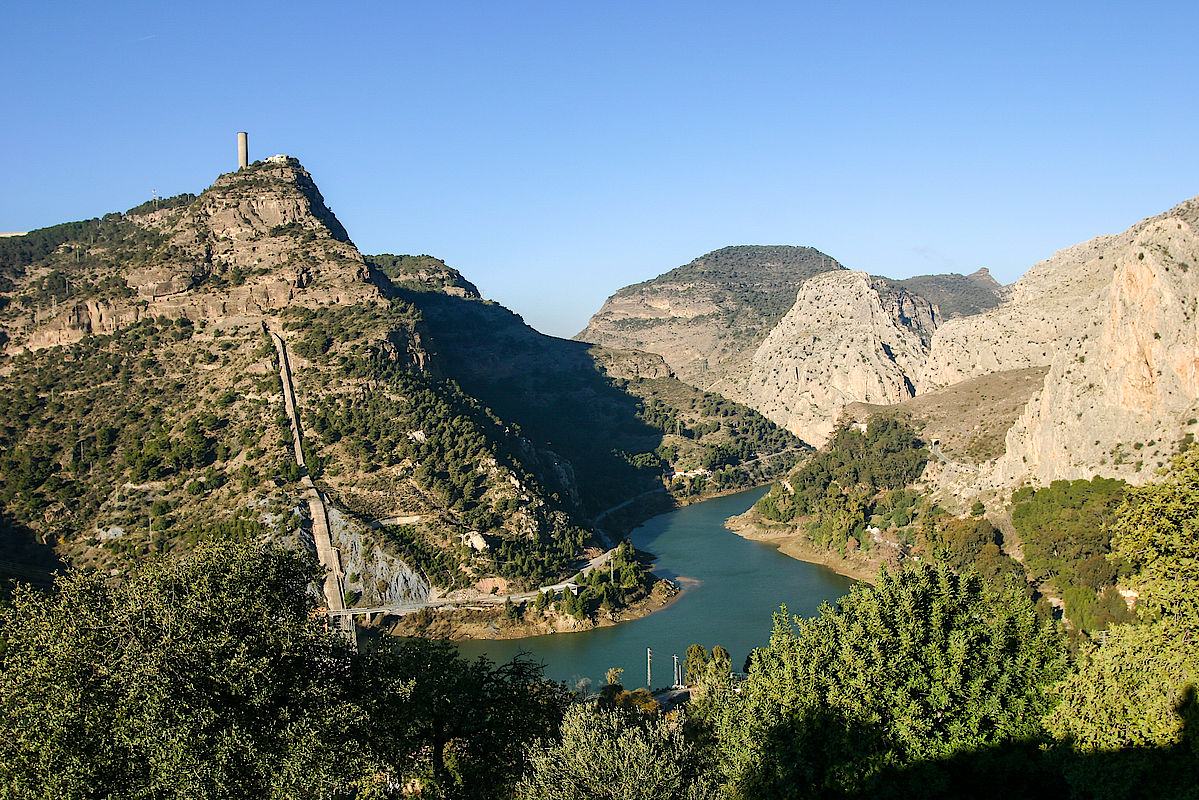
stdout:
<svg viewBox="0 0 1199 800">
<path fill-rule="evenodd" d="M 526 751 L 522 800 L 701 800 L 712 798 L 698 751 L 662 717 L 576 705 L 560 741 Z"/>
</svg>

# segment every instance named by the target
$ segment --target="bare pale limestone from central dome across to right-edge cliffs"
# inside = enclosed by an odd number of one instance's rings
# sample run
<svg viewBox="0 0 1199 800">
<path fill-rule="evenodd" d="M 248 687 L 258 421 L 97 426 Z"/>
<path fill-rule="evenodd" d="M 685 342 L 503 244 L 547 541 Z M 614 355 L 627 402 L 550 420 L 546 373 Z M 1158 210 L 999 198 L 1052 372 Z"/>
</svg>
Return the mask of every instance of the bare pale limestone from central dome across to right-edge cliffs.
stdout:
<svg viewBox="0 0 1199 800">
<path fill-rule="evenodd" d="M 1199 433 L 1197 206 L 1055 253 L 998 307 L 944 323 L 927 300 L 880 289 L 893 282 L 812 278 L 754 353 L 737 398 L 820 444 L 851 401 L 892 404 L 1047 369 L 1001 457 L 941 470 L 953 494 L 1096 474 L 1149 480 L 1185 433 Z"/>
</svg>

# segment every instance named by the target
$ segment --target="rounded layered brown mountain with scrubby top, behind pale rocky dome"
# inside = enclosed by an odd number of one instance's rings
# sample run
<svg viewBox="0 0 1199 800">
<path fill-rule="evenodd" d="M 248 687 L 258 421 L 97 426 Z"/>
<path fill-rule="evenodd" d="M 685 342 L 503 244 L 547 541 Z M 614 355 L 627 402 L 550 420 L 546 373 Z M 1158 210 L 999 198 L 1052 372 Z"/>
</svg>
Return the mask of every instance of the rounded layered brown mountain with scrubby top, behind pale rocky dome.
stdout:
<svg viewBox="0 0 1199 800">
<path fill-rule="evenodd" d="M 725 247 L 621 289 L 574 338 L 657 353 L 680 379 L 727 393 L 803 281 L 842 269 L 811 247 Z"/>
</svg>

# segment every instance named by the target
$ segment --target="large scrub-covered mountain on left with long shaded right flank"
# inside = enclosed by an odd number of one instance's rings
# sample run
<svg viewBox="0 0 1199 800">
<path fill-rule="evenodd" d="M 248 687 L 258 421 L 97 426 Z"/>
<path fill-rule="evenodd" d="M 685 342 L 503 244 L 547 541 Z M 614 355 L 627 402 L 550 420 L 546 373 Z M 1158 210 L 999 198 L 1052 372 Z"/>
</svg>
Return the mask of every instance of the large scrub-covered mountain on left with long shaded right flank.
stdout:
<svg viewBox="0 0 1199 800">
<path fill-rule="evenodd" d="M 735 488 L 802 449 L 656 356 L 532 331 L 434 257 L 361 254 L 284 156 L 0 240 L 0 561 L 34 571 L 319 549 L 327 527 L 347 602 L 528 588 L 671 471 Z"/>
</svg>

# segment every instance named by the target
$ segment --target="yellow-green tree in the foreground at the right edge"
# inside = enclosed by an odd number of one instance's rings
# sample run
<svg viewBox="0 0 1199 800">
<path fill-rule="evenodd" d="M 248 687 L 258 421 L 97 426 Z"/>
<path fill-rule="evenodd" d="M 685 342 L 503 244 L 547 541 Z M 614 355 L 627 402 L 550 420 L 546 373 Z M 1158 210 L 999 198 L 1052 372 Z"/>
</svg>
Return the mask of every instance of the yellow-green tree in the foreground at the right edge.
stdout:
<svg viewBox="0 0 1199 800">
<path fill-rule="evenodd" d="M 1080 753 L 1070 774 L 1099 796 L 1131 796 L 1199 780 L 1199 449 L 1181 453 L 1163 481 L 1129 488 L 1113 525 L 1114 559 L 1135 570 L 1138 624 L 1113 625 L 1086 645 L 1078 672 L 1058 686 L 1050 729 Z M 1135 748 L 1111 759 L 1115 750 Z M 1102 758 L 1096 758 L 1097 754 Z"/>
</svg>

